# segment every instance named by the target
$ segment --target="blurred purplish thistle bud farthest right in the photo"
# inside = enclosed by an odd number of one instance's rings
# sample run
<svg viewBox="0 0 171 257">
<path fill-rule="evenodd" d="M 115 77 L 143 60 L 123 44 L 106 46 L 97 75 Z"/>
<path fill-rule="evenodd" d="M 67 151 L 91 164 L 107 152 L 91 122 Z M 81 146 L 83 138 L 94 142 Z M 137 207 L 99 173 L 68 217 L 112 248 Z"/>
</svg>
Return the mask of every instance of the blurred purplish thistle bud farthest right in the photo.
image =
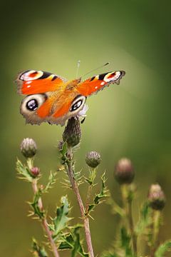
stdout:
<svg viewBox="0 0 171 257">
<path fill-rule="evenodd" d="M 150 186 L 147 198 L 152 209 L 161 211 L 165 207 L 165 193 L 163 193 L 159 184 Z"/>
</svg>

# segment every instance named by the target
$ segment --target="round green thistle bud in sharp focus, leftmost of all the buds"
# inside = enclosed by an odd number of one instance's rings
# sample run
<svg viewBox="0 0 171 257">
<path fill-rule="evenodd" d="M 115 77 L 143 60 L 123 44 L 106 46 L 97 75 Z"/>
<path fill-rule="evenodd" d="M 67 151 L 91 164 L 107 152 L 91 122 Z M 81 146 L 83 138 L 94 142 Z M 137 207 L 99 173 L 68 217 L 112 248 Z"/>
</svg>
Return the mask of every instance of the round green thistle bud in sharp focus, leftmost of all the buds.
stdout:
<svg viewBox="0 0 171 257">
<path fill-rule="evenodd" d="M 36 154 L 37 151 L 36 142 L 33 141 L 32 138 L 24 138 L 24 140 L 21 142 L 20 149 L 21 153 L 26 158 L 31 158 Z"/>
</svg>

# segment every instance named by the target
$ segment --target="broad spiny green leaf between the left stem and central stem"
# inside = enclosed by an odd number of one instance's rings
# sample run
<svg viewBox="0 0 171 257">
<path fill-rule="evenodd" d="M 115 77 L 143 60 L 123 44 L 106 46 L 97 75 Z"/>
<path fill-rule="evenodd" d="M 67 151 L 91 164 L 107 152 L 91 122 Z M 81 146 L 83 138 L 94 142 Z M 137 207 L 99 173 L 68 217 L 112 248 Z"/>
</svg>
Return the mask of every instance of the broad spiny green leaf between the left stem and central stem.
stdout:
<svg viewBox="0 0 171 257">
<path fill-rule="evenodd" d="M 56 209 L 56 217 L 52 219 L 53 224 L 49 225 L 53 231 L 53 238 L 56 240 L 58 233 L 60 233 L 64 228 L 66 228 L 68 221 L 68 212 L 70 211 L 70 206 L 68 203 L 67 196 L 62 196 L 61 206 Z"/>
</svg>

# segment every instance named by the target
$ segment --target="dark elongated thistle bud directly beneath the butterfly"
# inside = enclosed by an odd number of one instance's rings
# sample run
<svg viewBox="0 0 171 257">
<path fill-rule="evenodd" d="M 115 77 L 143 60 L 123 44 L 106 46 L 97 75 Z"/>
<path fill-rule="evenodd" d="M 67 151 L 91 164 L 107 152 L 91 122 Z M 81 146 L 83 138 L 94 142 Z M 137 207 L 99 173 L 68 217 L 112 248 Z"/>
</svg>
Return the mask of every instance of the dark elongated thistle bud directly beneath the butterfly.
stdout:
<svg viewBox="0 0 171 257">
<path fill-rule="evenodd" d="M 68 120 L 68 124 L 63 132 L 63 141 L 68 143 L 68 146 L 76 146 L 81 140 L 81 127 L 78 117 L 72 117 Z"/>
</svg>

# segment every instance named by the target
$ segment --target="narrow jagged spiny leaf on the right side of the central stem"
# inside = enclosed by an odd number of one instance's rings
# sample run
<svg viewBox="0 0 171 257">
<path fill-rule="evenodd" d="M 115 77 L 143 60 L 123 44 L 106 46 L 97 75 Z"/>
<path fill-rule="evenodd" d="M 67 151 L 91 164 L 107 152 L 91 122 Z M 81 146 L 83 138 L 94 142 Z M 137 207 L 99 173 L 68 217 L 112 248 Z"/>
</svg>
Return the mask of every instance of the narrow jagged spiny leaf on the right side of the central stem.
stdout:
<svg viewBox="0 0 171 257">
<path fill-rule="evenodd" d="M 103 173 L 103 175 L 101 176 L 101 189 L 100 189 L 100 193 L 95 195 L 95 198 L 93 199 L 93 203 L 89 204 L 88 206 L 88 211 L 85 213 L 86 215 L 88 215 L 90 213 L 90 211 L 93 211 L 93 209 L 95 208 L 95 206 L 97 206 L 99 203 L 103 202 L 103 199 L 105 197 L 109 196 L 108 193 L 108 189 L 105 186 L 105 173 Z"/>
</svg>

